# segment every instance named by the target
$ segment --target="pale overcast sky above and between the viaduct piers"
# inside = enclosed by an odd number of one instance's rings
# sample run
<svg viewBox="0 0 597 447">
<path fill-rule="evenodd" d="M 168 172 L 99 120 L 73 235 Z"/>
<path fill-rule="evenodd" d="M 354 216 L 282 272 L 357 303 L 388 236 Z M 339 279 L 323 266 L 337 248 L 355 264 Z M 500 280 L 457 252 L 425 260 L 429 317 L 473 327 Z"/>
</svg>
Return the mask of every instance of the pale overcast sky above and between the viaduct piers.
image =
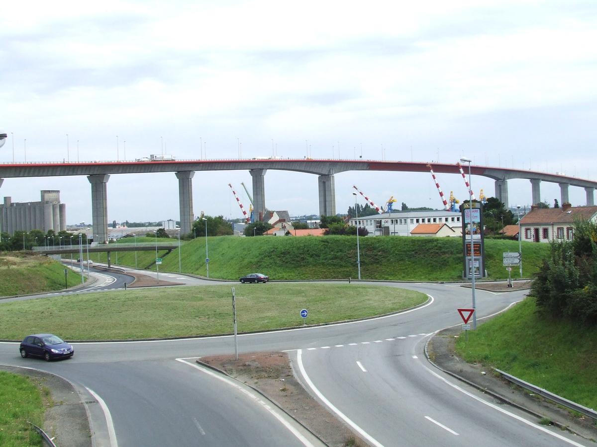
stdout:
<svg viewBox="0 0 597 447">
<path fill-rule="evenodd" d="M 594 0 L 4 2 L 0 163 L 13 145 L 15 162 L 233 159 L 273 140 L 280 157 L 464 155 L 595 180 L 595 42 Z M 466 197 L 460 176 L 438 180 Z M 195 215 L 241 217 L 229 182 L 248 208 L 248 171 L 198 172 Z M 319 212 L 316 176 L 269 170 L 265 184 L 269 209 Z M 380 205 L 442 205 L 428 173 L 346 172 L 337 212 L 353 184 Z M 494 195 L 491 179 L 472 185 Z M 0 196 L 40 190 L 61 191 L 69 224 L 91 222 L 84 176 L 5 179 Z M 107 191 L 110 222 L 179 219 L 174 173 L 112 175 Z M 509 197 L 529 204 L 530 182 Z M 543 182 L 542 200 L 559 197 Z"/>
</svg>

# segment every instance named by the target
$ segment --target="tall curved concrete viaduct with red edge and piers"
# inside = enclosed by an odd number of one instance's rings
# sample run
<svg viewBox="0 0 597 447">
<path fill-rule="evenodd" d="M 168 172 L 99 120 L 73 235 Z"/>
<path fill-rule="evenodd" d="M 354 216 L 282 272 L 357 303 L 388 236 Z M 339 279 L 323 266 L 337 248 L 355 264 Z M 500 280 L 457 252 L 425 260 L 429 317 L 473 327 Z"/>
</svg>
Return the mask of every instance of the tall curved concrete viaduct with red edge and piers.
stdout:
<svg viewBox="0 0 597 447">
<path fill-rule="evenodd" d="M 248 170 L 253 178 L 253 201 L 257 215 L 266 210 L 264 178 L 268 169 L 291 170 L 318 176 L 319 214 L 336 214 L 334 174 L 352 170 L 396 172 L 429 172 L 427 162 L 378 162 L 373 160 L 315 160 L 315 159 L 251 159 L 251 160 L 163 160 L 143 162 L 81 162 L 81 163 L 7 163 L 0 164 L 0 187 L 5 178 L 86 175 L 91 184 L 93 234 L 100 241 L 107 240 L 107 182 L 112 174 L 174 172 L 179 179 L 180 228 L 189 233 L 193 224 L 192 179 L 195 171 Z M 463 167 L 465 172 L 468 166 Z M 460 174 L 456 164 L 435 163 L 433 170 Z M 472 175 L 494 179 L 495 197 L 508 206 L 509 179 L 529 179 L 533 204 L 541 201 L 541 181 L 558 183 L 561 203 L 568 202 L 568 188 L 581 187 L 586 191 L 586 204 L 593 206 L 597 182 L 565 175 L 505 167 L 471 166 Z"/>
</svg>

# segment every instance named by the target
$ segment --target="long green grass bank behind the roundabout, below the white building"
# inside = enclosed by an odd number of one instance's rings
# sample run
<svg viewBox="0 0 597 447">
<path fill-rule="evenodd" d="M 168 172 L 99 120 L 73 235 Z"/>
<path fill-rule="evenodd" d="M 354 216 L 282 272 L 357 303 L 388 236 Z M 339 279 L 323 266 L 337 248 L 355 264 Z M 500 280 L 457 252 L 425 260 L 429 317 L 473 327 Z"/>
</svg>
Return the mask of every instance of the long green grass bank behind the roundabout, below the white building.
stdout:
<svg viewBox="0 0 597 447">
<path fill-rule="evenodd" d="M 154 242 L 149 237 L 137 242 Z M 131 238 L 122 242 L 131 243 Z M 362 237 L 361 277 L 367 280 L 459 281 L 463 269 L 460 238 Z M 355 278 L 356 237 L 208 237 L 210 277 L 236 280 L 251 272 L 263 272 L 274 280 Z M 538 271 L 548 244 L 522 244 L 524 276 Z M 507 278 L 503 252 L 518 252 L 518 242 L 486 240 L 489 279 Z M 178 249 L 159 250 L 160 271 L 179 271 Z M 106 254 L 91 255 L 106 262 Z M 155 252 L 137 252 L 139 268 L 155 268 Z M 116 263 L 116 255 L 112 254 Z M 118 263 L 135 266 L 134 252 L 119 252 Z M 182 271 L 205 275 L 205 238 L 184 243 Z M 513 278 L 518 278 L 516 267 Z"/>
</svg>

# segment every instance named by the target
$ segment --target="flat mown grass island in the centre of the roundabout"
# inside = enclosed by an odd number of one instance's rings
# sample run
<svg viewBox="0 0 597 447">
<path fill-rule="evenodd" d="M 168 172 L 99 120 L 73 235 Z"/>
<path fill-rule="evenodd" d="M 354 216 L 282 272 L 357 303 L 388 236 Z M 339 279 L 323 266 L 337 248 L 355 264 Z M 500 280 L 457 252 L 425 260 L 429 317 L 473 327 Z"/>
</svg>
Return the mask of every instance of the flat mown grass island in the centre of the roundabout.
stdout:
<svg viewBox="0 0 597 447">
<path fill-rule="evenodd" d="M 356 284 L 232 284 L 238 331 L 257 331 L 380 315 L 427 300 L 416 291 Z M 0 303 L 0 339 L 50 332 L 67 340 L 143 339 L 232 332 L 230 285 L 129 289 Z M 27 318 L 22 318 L 27 315 Z"/>
</svg>

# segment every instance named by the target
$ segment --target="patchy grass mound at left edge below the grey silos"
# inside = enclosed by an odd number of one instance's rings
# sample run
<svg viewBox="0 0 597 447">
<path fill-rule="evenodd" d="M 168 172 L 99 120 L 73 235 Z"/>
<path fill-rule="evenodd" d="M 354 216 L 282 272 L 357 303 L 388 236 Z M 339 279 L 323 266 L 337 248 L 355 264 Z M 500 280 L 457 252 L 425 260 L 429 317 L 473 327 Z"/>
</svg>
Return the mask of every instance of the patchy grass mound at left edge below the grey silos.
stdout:
<svg viewBox="0 0 597 447">
<path fill-rule="evenodd" d="M 45 256 L 0 254 L 0 296 L 62 290 L 64 269 L 60 262 Z M 67 269 L 67 284 L 81 284 L 81 276 Z"/>
</svg>

